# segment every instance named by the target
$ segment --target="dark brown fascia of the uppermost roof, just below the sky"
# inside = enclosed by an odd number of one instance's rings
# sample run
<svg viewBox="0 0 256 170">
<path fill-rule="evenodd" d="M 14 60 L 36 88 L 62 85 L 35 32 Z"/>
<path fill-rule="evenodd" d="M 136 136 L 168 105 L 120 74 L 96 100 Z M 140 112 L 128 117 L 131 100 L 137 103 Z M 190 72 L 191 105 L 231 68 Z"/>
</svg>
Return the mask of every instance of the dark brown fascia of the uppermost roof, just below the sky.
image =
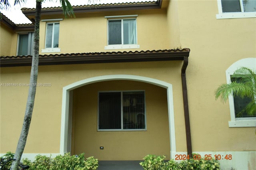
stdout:
<svg viewBox="0 0 256 170">
<path fill-rule="evenodd" d="M 158 0 L 155 3 L 131 3 L 131 4 L 113 4 L 113 5 L 99 5 L 99 6 L 73 6 L 74 13 L 86 13 L 86 12 L 106 12 L 106 11 L 123 11 L 123 10 L 144 10 L 144 9 L 159 9 L 161 8 L 162 0 Z M 35 16 L 36 9 L 22 8 L 23 14 L 29 18 L 29 16 Z M 63 14 L 61 7 L 43 8 L 41 15 L 56 15 Z M 30 19 L 32 22 L 33 20 Z"/>
</svg>

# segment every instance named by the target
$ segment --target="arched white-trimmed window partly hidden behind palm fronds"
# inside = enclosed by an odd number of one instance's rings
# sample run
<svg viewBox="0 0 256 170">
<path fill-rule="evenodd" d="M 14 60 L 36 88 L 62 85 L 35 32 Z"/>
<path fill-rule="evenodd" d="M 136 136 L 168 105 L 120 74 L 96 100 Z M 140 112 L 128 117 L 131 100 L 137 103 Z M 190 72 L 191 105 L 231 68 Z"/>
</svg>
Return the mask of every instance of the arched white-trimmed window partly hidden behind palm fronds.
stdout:
<svg viewBox="0 0 256 170">
<path fill-rule="evenodd" d="M 234 71 L 237 70 L 239 67 L 248 67 L 250 69 L 255 70 L 256 65 L 256 58 L 245 58 L 240 59 L 233 63 L 228 69 L 226 70 L 226 81 L 230 83 L 231 81 L 240 81 L 239 79 L 234 79 L 232 75 Z M 234 97 L 230 95 L 228 97 L 229 107 L 230 107 L 230 118 L 229 127 L 255 127 L 256 126 L 256 117 L 255 115 L 248 115 L 246 111 L 243 111 L 244 107 L 250 103 L 250 99 L 240 97 Z"/>
</svg>

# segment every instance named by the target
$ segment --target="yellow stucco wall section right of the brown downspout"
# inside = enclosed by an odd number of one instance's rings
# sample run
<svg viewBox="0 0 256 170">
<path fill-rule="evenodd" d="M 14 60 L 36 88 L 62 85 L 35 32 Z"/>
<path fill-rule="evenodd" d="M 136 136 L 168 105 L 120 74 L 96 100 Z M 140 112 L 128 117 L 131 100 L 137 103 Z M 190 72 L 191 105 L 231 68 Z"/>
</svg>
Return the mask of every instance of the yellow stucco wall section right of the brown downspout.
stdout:
<svg viewBox="0 0 256 170">
<path fill-rule="evenodd" d="M 230 65 L 256 56 L 255 18 L 217 20 L 217 1 L 175 2 L 180 43 L 191 50 L 186 77 L 192 150 L 255 151 L 255 127 L 228 127 L 229 105 L 214 97 Z"/>
</svg>

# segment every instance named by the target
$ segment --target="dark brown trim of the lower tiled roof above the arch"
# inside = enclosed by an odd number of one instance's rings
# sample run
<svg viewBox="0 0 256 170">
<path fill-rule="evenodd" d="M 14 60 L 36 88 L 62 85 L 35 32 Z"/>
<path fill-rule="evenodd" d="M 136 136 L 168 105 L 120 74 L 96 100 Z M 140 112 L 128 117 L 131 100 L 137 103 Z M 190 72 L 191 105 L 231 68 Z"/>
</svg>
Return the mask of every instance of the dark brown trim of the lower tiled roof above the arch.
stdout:
<svg viewBox="0 0 256 170">
<path fill-rule="evenodd" d="M 39 55 L 39 65 L 184 60 L 190 49 Z M 30 66 L 32 56 L 0 57 L 1 67 Z"/>
</svg>

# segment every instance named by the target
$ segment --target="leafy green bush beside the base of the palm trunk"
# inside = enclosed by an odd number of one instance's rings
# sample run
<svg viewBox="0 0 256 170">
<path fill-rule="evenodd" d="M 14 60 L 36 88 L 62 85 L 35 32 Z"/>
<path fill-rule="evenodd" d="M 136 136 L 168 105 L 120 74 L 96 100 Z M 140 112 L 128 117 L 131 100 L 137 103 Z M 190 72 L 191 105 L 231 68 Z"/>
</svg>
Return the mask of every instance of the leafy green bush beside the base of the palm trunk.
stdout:
<svg viewBox="0 0 256 170">
<path fill-rule="evenodd" d="M 55 158 L 37 155 L 34 162 L 28 158 L 22 161 L 24 165 L 30 166 L 29 170 L 96 170 L 98 168 L 98 159 L 91 156 L 84 160 L 84 154 L 71 156 L 66 153 L 64 156 L 58 155 Z"/>
</svg>

